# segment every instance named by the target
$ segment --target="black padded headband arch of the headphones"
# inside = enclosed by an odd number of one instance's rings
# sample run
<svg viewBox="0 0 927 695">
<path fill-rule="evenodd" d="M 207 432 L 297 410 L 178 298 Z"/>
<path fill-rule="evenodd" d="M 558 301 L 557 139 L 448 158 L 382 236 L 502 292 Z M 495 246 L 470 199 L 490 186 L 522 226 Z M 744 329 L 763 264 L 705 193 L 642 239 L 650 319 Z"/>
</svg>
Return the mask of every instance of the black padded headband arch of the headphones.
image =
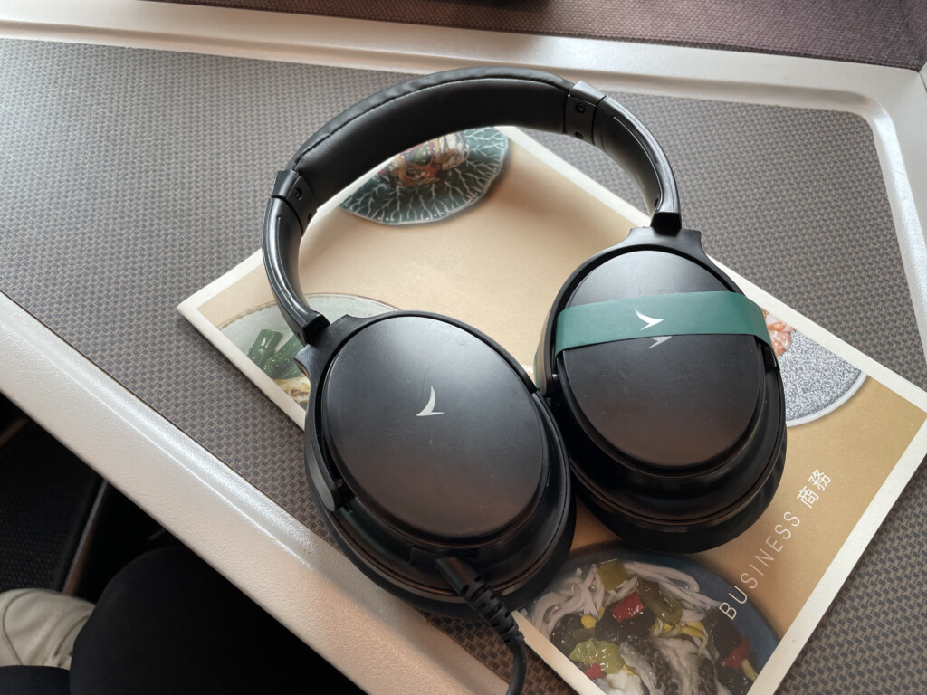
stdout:
<svg viewBox="0 0 927 695">
<path fill-rule="evenodd" d="M 640 120 L 586 82 L 517 68 L 457 69 L 402 82 L 328 121 L 277 174 L 264 213 L 264 266 L 286 322 L 304 345 L 328 325 L 305 304 L 297 272 L 299 240 L 319 205 L 398 152 L 497 124 L 596 145 L 631 175 L 651 225 L 679 230 L 679 194 L 666 154 Z"/>
</svg>

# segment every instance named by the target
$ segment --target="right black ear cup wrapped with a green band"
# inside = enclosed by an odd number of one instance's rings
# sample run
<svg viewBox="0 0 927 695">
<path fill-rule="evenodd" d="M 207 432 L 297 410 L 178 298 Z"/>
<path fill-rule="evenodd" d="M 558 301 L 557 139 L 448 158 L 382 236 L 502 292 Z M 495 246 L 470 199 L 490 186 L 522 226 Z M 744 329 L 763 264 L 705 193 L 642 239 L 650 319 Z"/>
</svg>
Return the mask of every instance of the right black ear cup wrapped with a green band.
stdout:
<svg viewBox="0 0 927 695">
<path fill-rule="evenodd" d="M 707 550 L 743 532 L 766 509 L 785 458 L 779 368 L 758 334 L 680 335 L 674 324 L 691 317 L 635 309 L 695 293 L 741 299 L 698 233 L 633 230 L 567 280 L 535 360 L 579 497 L 619 536 L 654 550 Z M 565 310 L 616 300 L 633 310 L 629 338 L 568 347 Z M 634 337 L 639 330 L 649 337 Z"/>
</svg>

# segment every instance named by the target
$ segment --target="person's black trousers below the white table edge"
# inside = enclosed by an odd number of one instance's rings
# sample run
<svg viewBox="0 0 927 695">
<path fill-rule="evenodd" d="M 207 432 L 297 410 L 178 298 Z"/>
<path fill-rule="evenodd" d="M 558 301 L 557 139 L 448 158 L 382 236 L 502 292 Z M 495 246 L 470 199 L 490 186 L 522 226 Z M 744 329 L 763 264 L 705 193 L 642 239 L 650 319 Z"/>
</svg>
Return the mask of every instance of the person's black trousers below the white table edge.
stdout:
<svg viewBox="0 0 927 695">
<path fill-rule="evenodd" d="M 344 639 L 349 639 L 345 635 Z M 189 550 L 155 550 L 109 582 L 70 672 L 0 668 L 3 695 L 361 695 Z"/>
</svg>

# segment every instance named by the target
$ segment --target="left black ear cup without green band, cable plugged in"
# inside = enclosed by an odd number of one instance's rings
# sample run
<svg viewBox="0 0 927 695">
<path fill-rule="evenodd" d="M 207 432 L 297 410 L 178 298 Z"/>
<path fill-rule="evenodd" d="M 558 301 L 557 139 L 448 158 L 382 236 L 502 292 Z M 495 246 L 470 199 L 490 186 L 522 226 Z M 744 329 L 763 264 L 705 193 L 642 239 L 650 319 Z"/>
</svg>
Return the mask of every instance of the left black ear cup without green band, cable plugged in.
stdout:
<svg viewBox="0 0 927 695">
<path fill-rule="evenodd" d="M 434 613 L 472 616 L 438 567 L 448 558 L 513 608 L 533 598 L 565 559 L 575 507 L 563 442 L 521 366 L 434 314 L 326 334 L 304 364 L 306 466 L 339 546 Z"/>
</svg>

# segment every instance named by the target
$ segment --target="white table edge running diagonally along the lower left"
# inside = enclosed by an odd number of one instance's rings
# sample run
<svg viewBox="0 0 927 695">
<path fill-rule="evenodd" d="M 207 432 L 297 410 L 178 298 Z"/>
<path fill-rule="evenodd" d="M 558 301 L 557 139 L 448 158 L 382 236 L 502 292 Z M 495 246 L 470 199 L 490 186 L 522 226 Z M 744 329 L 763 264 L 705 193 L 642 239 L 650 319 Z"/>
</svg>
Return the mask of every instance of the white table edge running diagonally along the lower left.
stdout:
<svg viewBox="0 0 927 695">
<path fill-rule="evenodd" d="M 0 354 L 0 391 L 362 689 L 502 689 L 421 613 L 2 293 Z"/>
</svg>

